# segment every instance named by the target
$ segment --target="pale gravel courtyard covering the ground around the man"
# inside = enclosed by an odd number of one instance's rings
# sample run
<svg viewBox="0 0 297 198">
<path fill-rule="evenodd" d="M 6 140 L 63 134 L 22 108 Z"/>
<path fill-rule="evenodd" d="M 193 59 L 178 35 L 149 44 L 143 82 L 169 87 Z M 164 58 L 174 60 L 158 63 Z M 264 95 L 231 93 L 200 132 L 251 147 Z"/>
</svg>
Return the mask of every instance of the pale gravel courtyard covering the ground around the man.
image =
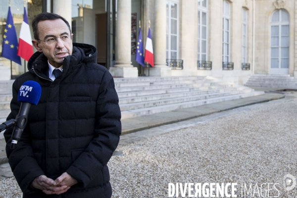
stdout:
<svg viewBox="0 0 297 198">
<path fill-rule="evenodd" d="M 297 93 L 237 111 L 120 146 L 108 162 L 112 197 L 166 198 L 168 183 L 237 183 L 241 197 L 242 184 L 255 193 L 278 183 L 270 197 L 297 198 L 297 187 L 283 185 L 286 174 L 297 177 Z M 21 197 L 14 178 L 0 180 L 0 189 L 0 198 Z"/>
</svg>

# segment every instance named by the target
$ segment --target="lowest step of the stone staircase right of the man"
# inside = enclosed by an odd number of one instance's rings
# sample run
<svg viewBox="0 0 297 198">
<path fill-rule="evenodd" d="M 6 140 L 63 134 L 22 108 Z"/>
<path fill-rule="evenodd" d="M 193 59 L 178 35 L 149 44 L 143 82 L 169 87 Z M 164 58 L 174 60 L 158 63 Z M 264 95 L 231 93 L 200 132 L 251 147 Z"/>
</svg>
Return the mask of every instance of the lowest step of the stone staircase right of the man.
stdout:
<svg viewBox="0 0 297 198">
<path fill-rule="evenodd" d="M 178 104 L 167 104 L 162 106 L 153 106 L 153 107 L 142 108 L 142 109 L 134 109 L 134 110 L 122 111 L 121 113 L 122 113 L 122 119 L 127 119 L 127 118 L 142 116 L 142 115 L 150 115 L 150 114 L 160 113 L 165 111 L 173 111 L 181 108 L 190 108 L 190 107 L 199 106 L 203 104 L 210 104 L 214 102 L 258 96 L 262 94 L 264 94 L 264 92 L 249 92 L 245 94 L 238 94 L 238 95 L 232 95 L 232 96 L 181 102 Z"/>
</svg>

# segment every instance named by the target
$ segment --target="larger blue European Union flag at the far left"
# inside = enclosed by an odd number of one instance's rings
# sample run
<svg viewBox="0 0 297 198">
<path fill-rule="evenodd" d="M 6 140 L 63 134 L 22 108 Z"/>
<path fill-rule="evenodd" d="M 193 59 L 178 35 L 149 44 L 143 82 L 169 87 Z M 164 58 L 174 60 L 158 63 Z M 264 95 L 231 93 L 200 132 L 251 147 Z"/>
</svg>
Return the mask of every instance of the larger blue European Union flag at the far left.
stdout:
<svg viewBox="0 0 297 198">
<path fill-rule="evenodd" d="M 8 7 L 8 15 L 6 20 L 6 26 L 4 29 L 1 56 L 21 65 L 22 64 L 21 57 L 17 55 L 17 48 L 18 48 L 18 42 L 17 42 L 16 31 L 13 24 L 12 15 L 10 12 L 10 7 Z"/>
</svg>

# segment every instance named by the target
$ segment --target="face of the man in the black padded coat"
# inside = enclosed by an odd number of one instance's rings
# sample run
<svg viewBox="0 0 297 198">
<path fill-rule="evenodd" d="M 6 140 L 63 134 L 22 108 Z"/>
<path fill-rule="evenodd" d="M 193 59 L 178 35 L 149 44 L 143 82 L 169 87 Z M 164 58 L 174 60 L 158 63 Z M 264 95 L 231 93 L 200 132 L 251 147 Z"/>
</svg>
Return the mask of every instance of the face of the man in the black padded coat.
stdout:
<svg viewBox="0 0 297 198">
<path fill-rule="evenodd" d="M 38 23 L 39 40 L 32 40 L 34 47 L 47 56 L 49 63 L 58 68 L 62 65 L 64 57 L 72 54 L 72 35 L 69 28 L 62 19 L 45 20 Z M 67 41 L 62 38 L 68 37 Z M 60 39 L 61 38 L 61 39 Z M 56 39 L 51 44 L 43 42 L 49 39 Z"/>
</svg>

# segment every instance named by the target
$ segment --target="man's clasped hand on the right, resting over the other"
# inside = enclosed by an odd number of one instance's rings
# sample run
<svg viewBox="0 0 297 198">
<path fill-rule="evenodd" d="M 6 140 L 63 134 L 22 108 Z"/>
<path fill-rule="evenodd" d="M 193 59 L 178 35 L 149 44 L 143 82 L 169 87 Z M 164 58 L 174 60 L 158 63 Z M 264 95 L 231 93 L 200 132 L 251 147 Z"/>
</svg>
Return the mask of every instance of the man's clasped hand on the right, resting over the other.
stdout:
<svg viewBox="0 0 297 198">
<path fill-rule="evenodd" d="M 43 190 L 43 192 L 47 195 L 59 195 L 68 191 L 74 184 L 77 184 L 77 180 L 65 172 L 53 181 L 52 186 L 49 186 L 47 189 Z"/>
</svg>

